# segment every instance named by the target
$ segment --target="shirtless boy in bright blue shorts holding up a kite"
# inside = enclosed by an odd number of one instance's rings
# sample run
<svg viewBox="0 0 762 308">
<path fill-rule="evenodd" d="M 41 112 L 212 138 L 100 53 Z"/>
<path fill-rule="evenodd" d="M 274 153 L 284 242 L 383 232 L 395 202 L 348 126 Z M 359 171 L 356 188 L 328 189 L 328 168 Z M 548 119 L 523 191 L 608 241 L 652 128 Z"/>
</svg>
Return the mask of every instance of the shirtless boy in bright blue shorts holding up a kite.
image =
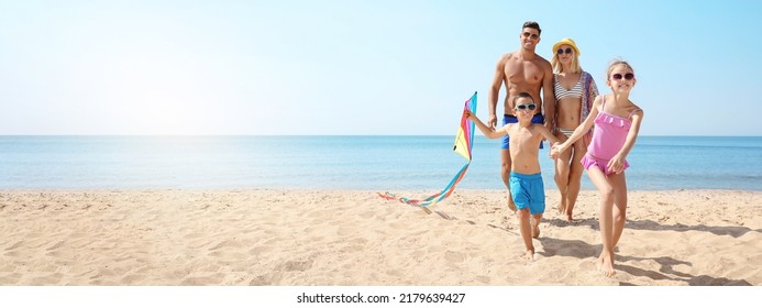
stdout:
<svg viewBox="0 0 762 308">
<path fill-rule="evenodd" d="M 531 122 L 538 105 L 528 92 L 515 96 L 513 106 L 511 111 L 518 119 L 518 123 L 508 123 L 495 131 L 485 125 L 476 114 L 467 110 L 464 112 L 485 136 L 498 139 L 508 135 L 510 138 L 510 160 L 513 162 L 510 167 L 510 195 L 518 208 L 521 239 L 527 248 L 524 257 L 531 261 L 534 258 L 534 245 L 531 238 L 540 237 L 540 221 L 545 211 L 545 190 L 538 158 L 540 143 L 543 136 L 552 144 L 557 140 L 545 127 Z"/>
</svg>

